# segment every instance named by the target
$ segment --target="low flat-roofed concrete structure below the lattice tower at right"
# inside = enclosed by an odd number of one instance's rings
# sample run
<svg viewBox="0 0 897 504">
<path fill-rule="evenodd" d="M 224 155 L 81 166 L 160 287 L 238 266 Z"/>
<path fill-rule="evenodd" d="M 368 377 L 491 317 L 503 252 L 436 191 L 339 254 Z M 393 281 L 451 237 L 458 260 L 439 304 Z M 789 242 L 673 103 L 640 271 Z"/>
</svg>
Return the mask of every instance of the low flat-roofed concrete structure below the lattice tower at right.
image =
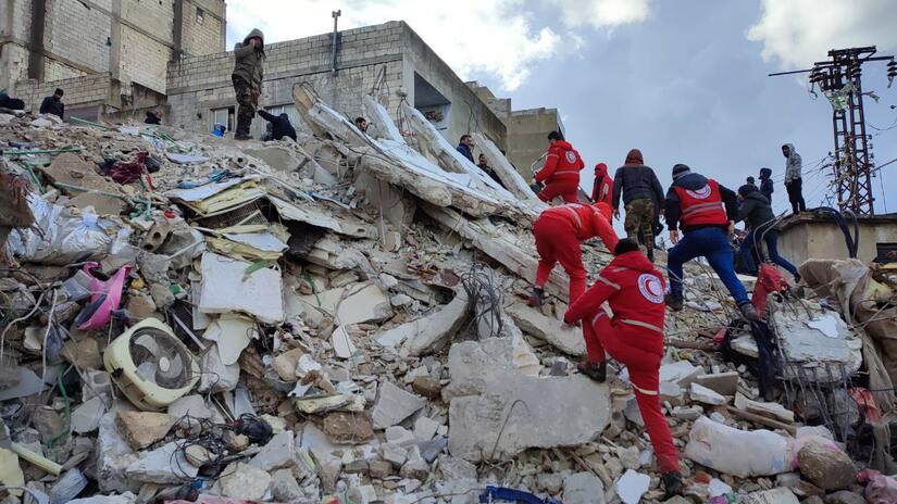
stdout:
<svg viewBox="0 0 897 504">
<path fill-rule="evenodd" d="M 861 215 L 857 259 L 869 263 L 897 250 L 897 214 Z M 847 223 L 852 235 L 852 222 Z M 845 259 L 847 244 L 840 227 L 831 217 L 802 214 L 783 222 L 778 235 L 778 252 L 799 266 L 809 257 Z"/>
</svg>

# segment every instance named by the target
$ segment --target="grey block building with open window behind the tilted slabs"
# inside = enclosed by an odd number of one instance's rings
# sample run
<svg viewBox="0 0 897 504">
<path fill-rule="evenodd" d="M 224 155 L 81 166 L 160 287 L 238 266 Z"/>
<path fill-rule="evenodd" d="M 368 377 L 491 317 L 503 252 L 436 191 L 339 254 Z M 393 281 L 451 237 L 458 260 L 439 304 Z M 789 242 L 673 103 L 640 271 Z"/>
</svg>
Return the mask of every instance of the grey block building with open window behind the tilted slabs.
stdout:
<svg viewBox="0 0 897 504">
<path fill-rule="evenodd" d="M 408 100 L 453 144 L 461 135 L 479 130 L 507 147 L 504 123 L 404 22 L 339 32 L 336 43 L 335 70 L 332 34 L 265 45 L 260 104 L 296 122 L 292 87 L 304 84 L 354 117 L 362 115 L 362 97 L 373 92 L 394 118 L 399 103 Z M 221 123 L 233 129 L 233 52 L 173 63 L 167 81 L 170 123 L 191 129 Z M 263 128 L 264 122 L 257 118 L 251 133 L 258 137 Z"/>
</svg>

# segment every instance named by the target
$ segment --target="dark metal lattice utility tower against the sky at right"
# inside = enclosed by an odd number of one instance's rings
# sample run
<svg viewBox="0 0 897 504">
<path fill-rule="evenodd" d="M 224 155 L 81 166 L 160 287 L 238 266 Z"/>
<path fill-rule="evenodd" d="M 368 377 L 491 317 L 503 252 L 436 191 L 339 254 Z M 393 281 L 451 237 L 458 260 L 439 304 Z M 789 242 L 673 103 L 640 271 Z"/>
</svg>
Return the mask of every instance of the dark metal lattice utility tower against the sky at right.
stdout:
<svg viewBox="0 0 897 504">
<path fill-rule="evenodd" d="M 862 64 L 871 61 L 888 61 L 887 86 L 897 76 L 894 56 L 875 56 L 875 46 L 833 49 L 829 60 L 813 63 L 809 70 L 781 72 L 774 75 L 810 73 L 810 90 L 819 86 L 832 104 L 832 126 L 835 139 L 834 185 L 840 210 L 857 215 L 874 215 L 875 198 L 872 196 L 872 173 L 875 166 L 869 152 L 865 134 L 863 91 L 860 77 Z"/>
</svg>

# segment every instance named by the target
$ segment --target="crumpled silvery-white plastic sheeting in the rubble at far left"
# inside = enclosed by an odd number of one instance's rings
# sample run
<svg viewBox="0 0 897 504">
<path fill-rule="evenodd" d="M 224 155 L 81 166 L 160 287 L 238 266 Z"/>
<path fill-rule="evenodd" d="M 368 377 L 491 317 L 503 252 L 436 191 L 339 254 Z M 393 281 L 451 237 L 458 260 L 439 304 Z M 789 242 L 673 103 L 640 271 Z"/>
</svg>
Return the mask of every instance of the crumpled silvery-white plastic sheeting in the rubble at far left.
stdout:
<svg viewBox="0 0 897 504">
<path fill-rule="evenodd" d="M 99 260 L 113 242 L 126 242 L 132 230 L 97 214 L 74 214 L 70 209 L 49 203 L 37 194 L 28 196 L 35 216 L 33 229 L 10 234 L 10 251 L 20 261 L 64 266 Z"/>
</svg>

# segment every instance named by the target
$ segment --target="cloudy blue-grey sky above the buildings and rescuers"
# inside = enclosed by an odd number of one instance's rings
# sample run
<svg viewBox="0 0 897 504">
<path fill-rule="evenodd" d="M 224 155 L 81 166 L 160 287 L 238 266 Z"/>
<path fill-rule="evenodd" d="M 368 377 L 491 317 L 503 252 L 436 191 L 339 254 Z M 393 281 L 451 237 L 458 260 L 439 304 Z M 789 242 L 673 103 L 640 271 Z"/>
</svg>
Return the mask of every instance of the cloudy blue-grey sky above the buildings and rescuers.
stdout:
<svg viewBox="0 0 897 504">
<path fill-rule="evenodd" d="M 821 162 L 833 150 L 831 106 L 808 92 L 808 68 L 832 48 L 897 51 L 894 0 L 227 0 L 228 43 L 254 26 L 267 41 L 404 20 L 464 79 L 560 110 L 586 164 L 611 169 L 641 149 L 664 187 L 685 163 L 737 188 L 773 168 L 787 206 L 780 146 L 803 158 L 807 204 L 831 194 Z M 897 84 L 863 68 L 875 161 L 897 158 Z M 890 127 L 890 129 L 888 129 Z M 589 171 L 584 171 L 584 174 Z M 873 180 L 876 212 L 897 212 L 897 163 Z M 591 175 L 584 177 L 588 186 Z M 889 198 L 888 198 L 889 197 Z M 887 201 L 886 201 L 887 200 Z"/>
</svg>

